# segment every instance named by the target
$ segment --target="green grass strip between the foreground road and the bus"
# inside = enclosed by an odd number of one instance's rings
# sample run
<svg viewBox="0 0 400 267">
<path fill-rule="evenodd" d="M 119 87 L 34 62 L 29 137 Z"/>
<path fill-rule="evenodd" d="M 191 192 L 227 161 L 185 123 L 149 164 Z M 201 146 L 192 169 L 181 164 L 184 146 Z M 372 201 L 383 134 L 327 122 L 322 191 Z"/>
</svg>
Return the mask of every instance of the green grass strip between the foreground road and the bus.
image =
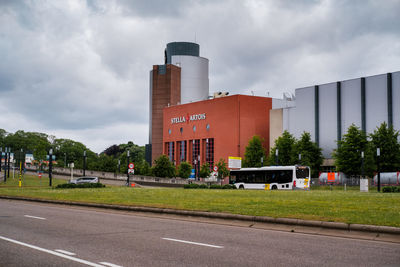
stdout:
<svg viewBox="0 0 400 267">
<path fill-rule="evenodd" d="M 53 185 L 65 183 L 53 179 Z M 359 188 L 310 191 L 211 190 L 106 187 L 54 189 L 48 178 L 25 175 L 0 183 L 0 195 L 48 200 L 212 211 L 276 218 L 296 218 L 400 227 L 400 193 L 359 192 Z M 355 190 L 357 189 L 357 190 Z"/>
</svg>

